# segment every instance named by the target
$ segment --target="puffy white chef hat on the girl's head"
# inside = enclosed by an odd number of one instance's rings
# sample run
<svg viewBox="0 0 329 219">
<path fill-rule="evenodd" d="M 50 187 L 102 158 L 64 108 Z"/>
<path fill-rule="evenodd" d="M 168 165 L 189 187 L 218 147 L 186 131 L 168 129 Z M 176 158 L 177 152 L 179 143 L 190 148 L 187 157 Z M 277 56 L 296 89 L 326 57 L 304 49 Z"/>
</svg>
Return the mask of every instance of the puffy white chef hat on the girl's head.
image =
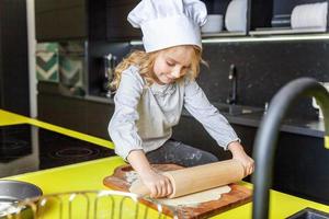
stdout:
<svg viewBox="0 0 329 219">
<path fill-rule="evenodd" d="M 128 14 L 128 21 L 141 28 L 147 53 L 178 45 L 202 48 L 200 26 L 207 10 L 200 0 L 141 0 Z"/>
</svg>

